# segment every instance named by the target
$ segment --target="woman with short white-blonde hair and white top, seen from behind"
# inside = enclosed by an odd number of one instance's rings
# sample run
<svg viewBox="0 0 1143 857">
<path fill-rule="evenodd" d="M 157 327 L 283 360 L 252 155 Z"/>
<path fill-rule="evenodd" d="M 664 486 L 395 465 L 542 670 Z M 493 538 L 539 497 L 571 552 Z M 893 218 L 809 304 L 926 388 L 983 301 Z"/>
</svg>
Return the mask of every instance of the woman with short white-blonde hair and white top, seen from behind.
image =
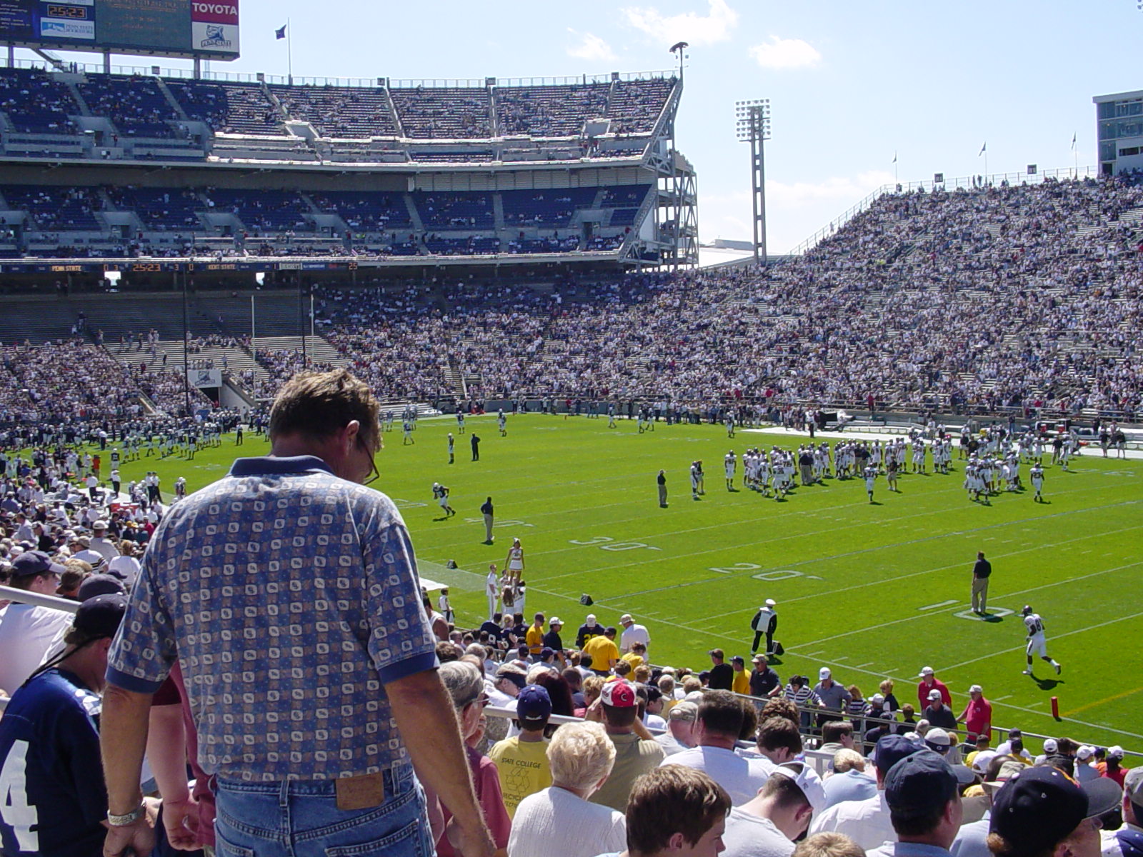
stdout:
<svg viewBox="0 0 1143 857">
<path fill-rule="evenodd" d="M 509 857 L 594 857 L 626 848 L 623 815 L 589 802 L 615 764 L 615 745 L 600 723 L 566 723 L 547 745 L 552 785 L 517 807 Z"/>
</svg>

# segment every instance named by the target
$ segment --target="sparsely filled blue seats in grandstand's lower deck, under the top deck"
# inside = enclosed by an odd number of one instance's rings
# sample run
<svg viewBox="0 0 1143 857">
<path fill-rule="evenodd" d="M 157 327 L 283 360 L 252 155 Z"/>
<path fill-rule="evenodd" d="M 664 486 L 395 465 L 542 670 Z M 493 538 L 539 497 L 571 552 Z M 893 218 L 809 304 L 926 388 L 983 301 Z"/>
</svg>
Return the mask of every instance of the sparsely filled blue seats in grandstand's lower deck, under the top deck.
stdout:
<svg viewBox="0 0 1143 857">
<path fill-rule="evenodd" d="M 641 200 L 647 187 L 607 189 L 602 208 L 615 209 L 613 226 L 630 223 L 630 218 L 623 218 L 629 211 L 633 214 L 633 209 L 616 207 L 625 205 L 630 197 Z M 314 191 L 306 199 L 294 190 L 3 185 L 0 206 L 31 216 L 25 224 L 27 255 L 54 258 L 176 257 L 192 253 L 217 257 L 383 257 L 417 255 L 422 246 L 434 255 L 486 255 L 499 253 L 502 246 L 509 253 L 578 249 L 578 240 L 561 238 L 558 232 L 529 237 L 521 232 L 519 240 L 510 240 L 507 235 L 521 229 L 572 229 L 575 213 L 590 208 L 599 190 L 505 191 L 499 194 L 505 234 L 496 233 L 496 194 L 464 191 L 418 192 L 408 199 L 394 192 Z M 110 205 L 104 202 L 104 193 Z M 423 233 L 414 231 L 409 202 L 418 213 Z M 126 237 L 118 222 L 114 226 L 101 224 L 98 213 L 104 210 L 134 213 L 141 229 Z M 319 213 L 342 217 L 346 225 L 344 234 L 333 230 L 328 235 L 315 234 Z M 206 216 L 217 214 L 232 214 L 237 223 L 211 225 Z M 481 234 L 469 234 L 478 231 Z M 99 234 L 75 235 L 74 241 L 69 241 L 67 232 Z M 149 234 L 152 232 L 162 234 Z M 615 249 L 622 238 L 596 235 L 588 249 Z"/>
</svg>

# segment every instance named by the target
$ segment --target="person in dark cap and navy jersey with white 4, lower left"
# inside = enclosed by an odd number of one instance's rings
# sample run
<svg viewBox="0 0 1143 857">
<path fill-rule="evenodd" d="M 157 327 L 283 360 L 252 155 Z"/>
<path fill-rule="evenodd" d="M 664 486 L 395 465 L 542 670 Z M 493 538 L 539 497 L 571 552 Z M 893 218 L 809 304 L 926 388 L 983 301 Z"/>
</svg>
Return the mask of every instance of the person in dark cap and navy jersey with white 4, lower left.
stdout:
<svg viewBox="0 0 1143 857">
<path fill-rule="evenodd" d="M 91 857 L 107 833 L 98 692 L 127 598 L 80 604 L 56 659 L 13 694 L 0 720 L 0 841 L 7 857 Z"/>
</svg>

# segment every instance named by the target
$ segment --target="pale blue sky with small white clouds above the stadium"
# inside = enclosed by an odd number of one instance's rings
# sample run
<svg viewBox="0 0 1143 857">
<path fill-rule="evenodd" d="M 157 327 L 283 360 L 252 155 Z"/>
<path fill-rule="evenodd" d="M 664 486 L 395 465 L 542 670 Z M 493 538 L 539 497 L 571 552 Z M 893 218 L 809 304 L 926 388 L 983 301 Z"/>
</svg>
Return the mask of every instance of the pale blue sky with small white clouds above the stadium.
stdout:
<svg viewBox="0 0 1143 857">
<path fill-rule="evenodd" d="M 769 251 L 780 254 L 895 175 L 901 182 L 932 181 L 934 173 L 951 179 L 983 174 L 985 159 L 992 174 L 1023 173 L 1030 163 L 1041 171 L 1077 161 L 1094 166 L 1092 96 L 1143 89 L 1141 6 L 1143 0 L 242 0 L 242 56 L 213 69 L 285 74 L 287 42 L 275 40 L 274 30 L 287 19 L 295 77 L 670 70 L 676 61 L 669 48 L 687 41 L 677 145 L 698 174 L 701 239 L 751 238 L 749 146 L 735 139 L 734 103 L 769 98 L 767 237 Z"/>
</svg>

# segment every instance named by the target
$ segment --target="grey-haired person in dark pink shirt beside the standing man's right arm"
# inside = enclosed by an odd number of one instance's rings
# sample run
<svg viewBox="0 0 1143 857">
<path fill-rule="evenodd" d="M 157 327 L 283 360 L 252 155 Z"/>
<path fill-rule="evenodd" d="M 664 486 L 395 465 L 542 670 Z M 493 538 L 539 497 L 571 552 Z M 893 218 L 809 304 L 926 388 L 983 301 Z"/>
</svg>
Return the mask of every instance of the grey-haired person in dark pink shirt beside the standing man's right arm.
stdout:
<svg viewBox="0 0 1143 857">
<path fill-rule="evenodd" d="M 485 706 L 488 705 L 485 676 L 467 660 L 450 660 L 440 665 L 440 678 L 453 699 L 453 705 L 456 706 L 456 716 L 461 721 L 461 737 L 465 740 L 469 768 L 472 771 L 472 785 L 475 787 L 477 802 L 483 810 L 485 823 L 491 831 L 493 842 L 496 844 L 495 855 L 504 857 L 504 847 L 507 844 L 509 827 L 512 823 L 507 817 L 507 810 L 504 809 L 496 762 L 467 744 L 469 738 L 480 730 L 480 719 L 483 716 Z M 448 824 L 451 814 L 447 807 L 442 807 L 442 809 L 445 823 Z M 441 836 L 437 842 L 437 855 L 438 857 L 458 857 L 458 852 L 449 843 L 448 836 Z"/>
</svg>

